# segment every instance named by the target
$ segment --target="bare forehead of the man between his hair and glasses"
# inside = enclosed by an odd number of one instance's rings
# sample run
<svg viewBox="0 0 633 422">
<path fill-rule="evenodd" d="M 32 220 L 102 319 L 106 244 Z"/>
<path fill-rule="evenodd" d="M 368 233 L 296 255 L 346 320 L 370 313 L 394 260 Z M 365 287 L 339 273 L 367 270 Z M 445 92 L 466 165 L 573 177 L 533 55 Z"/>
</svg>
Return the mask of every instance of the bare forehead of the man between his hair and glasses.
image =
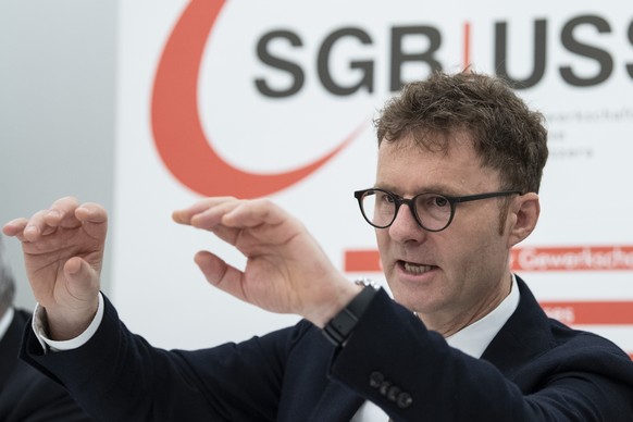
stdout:
<svg viewBox="0 0 633 422">
<path fill-rule="evenodd" d="M 447 195 L 496 189 L 498 172 L 481 164 L 468 133 L 450 135 L 448 148 L 425 148 L 412 137 L 383 141 L 378 148 L 376 186 L 400 195 L 436 191 Z"/>
</svg>

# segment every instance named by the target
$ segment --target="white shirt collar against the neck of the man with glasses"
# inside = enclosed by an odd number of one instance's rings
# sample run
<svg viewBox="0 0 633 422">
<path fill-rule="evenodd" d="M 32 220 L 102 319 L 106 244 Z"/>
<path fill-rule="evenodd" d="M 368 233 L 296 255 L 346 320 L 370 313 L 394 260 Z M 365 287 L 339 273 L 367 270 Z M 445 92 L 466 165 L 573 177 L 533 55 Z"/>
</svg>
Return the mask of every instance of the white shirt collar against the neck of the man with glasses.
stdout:
<svg viewBox="0 0 633 422">
<path fill-rule="evenodd" d="M 510 294 L 491 313 L 446 337 L 446 342 L 473 358 L 481 358 L 506 321 L 514 313 L 520 296 L 517 277 L 512 274 Z"/>
</svg>

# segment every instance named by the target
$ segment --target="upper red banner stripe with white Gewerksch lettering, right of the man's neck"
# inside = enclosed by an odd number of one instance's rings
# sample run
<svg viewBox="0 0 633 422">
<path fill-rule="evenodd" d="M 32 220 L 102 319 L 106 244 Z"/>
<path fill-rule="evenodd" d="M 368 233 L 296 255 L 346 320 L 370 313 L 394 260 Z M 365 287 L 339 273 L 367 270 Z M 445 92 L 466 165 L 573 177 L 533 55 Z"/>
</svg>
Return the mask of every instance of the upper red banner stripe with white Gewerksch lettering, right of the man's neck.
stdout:
<svg viewBox="0 0 633 422">
<path fill-rule="evenodd" d="M 511 268 L 513 271 L 631 271 L 633 246 L 514 248 Z"/>
</svg>

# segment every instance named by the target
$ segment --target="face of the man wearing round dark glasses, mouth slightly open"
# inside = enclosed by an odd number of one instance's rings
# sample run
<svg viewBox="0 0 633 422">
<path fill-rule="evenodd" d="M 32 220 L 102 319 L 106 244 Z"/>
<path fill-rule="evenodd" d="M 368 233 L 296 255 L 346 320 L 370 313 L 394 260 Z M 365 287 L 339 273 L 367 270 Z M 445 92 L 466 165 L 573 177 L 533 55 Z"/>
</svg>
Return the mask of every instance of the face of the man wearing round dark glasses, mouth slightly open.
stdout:
<svg viewBox="0 0 633 422">
<path fill-rule="evenodd" d="M 433 135 L 430 135 L 433 136 Z M 482 167 L 468 135 L 451 134 L 448 153 L 408 139 L 384 141 L 376 185 L 401 197 L 421 193 L 464 196 L 500 190 L 498 173 Z M 437 233 L 418 225 L 407 206 L 394 223 L 376 228 L 383 269 L 394 298 L 445 335 L 481 319 L 508 294 L 509 240 L 499 234 L 500 201 L 457 204 L 450 225 Z M 506 231 L 507 232 L 507 231 Z"/>
</svg>

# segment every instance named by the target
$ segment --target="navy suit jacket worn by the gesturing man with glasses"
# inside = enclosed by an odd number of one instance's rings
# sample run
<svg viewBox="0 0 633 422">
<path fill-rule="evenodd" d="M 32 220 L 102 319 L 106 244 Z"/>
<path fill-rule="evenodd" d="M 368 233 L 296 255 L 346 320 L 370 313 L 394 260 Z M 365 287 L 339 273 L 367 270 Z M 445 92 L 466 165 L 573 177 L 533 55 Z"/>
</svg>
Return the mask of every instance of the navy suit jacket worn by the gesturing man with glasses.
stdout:
<svg viewBox="0 0 633 422">
<path fill-rule="evenodd" d="M 378 293 L 346 346 L 296 326 L 241 344 L 165 351 L 107 301 L 96 335 L 23 357 L 105 421 L 349 421 L 364 399 L 395 421 L 633 421 L 633 363 L 612 343 L 548 320 L 519 280 L 517 311 L 473 359 Z"/>
</svg>

